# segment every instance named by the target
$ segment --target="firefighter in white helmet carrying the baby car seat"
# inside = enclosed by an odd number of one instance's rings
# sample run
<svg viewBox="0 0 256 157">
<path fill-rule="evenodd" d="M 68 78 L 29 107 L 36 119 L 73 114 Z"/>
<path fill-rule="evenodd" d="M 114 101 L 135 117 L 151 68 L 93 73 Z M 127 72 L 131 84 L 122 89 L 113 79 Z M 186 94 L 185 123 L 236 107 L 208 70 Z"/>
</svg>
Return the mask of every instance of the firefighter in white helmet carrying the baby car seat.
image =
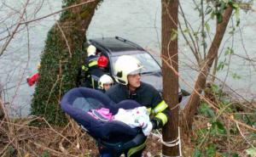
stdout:
<svg viewBox="0 0 256 157">
<path fill-rule="evenodd" d="M 143 64 L 135 57 L 120 56 L 114 64 L 115 80 L 118 83 L 110 87 L 106 93 L 115 103 L 125 99 L 133 99 L 147 107 L 150 115 L 152 115 L 150 117 L 152 117 L 153 128 L 158 129 L 168 121 L 168 105 L 154 87 L 141 81 L 142 70 Z M 134 156 L 143 153 L 145 146 L 140 148 Z"/>
</svg>

